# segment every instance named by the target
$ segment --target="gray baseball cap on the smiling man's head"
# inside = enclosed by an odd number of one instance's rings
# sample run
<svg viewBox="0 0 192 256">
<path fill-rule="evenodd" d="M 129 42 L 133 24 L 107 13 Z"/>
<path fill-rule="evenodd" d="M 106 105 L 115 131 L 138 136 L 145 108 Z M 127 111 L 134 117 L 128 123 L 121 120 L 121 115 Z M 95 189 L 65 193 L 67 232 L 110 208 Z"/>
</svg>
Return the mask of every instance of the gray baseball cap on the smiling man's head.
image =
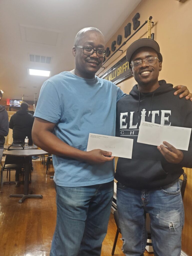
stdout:
<svg viewBox="0 0 192 256">
<path fill-rule="evenodd" d="M 141 48 L 141 47 L 151 47 L 153 48 L 157 53 L 160 52 L 159 45 L 157 42 L 153 39 L 149 38 L 141 38 L 133 42 L 129 48 L 127 49 L 126 58 L 130 62 L 131 56 L 134 54 L 134 52 Z"/>
</svg>

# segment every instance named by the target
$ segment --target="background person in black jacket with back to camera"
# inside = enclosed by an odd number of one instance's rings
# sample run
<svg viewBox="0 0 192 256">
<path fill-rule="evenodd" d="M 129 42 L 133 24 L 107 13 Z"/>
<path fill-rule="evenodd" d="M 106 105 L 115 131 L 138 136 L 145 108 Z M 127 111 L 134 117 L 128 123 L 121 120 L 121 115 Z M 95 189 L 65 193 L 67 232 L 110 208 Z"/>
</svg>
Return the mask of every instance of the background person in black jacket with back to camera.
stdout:
<svg viewBox="0 0 192 256">
<path fill-rule="evenodd" d="M 31 130 L 34 117 L 29 113 L 28 108 L 29 105 L 26 102 L 21 104 L 21 110 L 11 116 L 9 128 L 13 129 L 13 141 L 22 141 L 25 144 L 25 137 L 27 136 L 29 139 L 28 145 L 33 145 Z M 15 182 L 17 187 L 19 186 L 19 172 L 19 169 L 15 172 Z"/>
</svg>

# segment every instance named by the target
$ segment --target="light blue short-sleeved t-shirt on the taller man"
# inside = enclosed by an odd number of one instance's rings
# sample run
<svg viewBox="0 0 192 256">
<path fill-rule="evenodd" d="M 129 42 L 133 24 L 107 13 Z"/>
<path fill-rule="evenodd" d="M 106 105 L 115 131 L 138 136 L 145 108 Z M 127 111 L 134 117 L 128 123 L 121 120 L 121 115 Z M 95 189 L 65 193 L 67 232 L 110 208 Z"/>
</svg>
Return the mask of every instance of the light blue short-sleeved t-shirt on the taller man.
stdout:
<svg viewBox="0 0 192 256">
<path fill-rule="evenodd" d="M 55 123 L 54 134 L 60 140 L 86 151 L 89 133 L 115 136 L 116 103 L 124 95 L 108 80 L 65 71 L 44 82 L 34 116 Z M 53 155 L 53 164 L 59 186 L 89 186 L 114 178 L 113 161 L 91 165 Z"/>
</svg>

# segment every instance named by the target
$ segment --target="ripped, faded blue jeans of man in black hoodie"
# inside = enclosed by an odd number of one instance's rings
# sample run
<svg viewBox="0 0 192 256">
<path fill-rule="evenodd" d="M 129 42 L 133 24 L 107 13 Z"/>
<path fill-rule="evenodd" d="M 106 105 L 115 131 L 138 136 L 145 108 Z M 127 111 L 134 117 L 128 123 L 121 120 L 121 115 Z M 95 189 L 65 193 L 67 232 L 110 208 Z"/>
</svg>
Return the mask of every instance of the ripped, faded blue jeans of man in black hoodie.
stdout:
<svg viewBox="0 0 192 256">
<path fill-rule="evenodd" d="M 157 190 L 137 190 L 118 182 L 117 208 L 126 256 L 144 255 L 146 213 L 155 256 L 180 256 L 184 209 L 178 180 Z"/>
</svg>

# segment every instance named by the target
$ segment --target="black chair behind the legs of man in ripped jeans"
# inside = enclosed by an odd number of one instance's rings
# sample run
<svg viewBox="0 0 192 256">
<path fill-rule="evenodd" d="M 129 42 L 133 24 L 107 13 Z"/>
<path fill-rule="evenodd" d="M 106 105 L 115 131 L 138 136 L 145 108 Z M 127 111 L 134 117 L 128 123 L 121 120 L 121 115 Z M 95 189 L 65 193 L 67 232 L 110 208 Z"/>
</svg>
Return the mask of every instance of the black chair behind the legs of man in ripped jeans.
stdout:
<svg viewBox="0 0 192 256">
<path fill-rule="evenodd" d="M 187 184 L 187 174 L 186 173 L 183 173 L 183 180 L 179 179 L 179 183 L 180 183 L 180 190 L 181 190 L 181 195 L 182 195 L 182 199 L 183 199 L 186 184 Z M 118 210 L 115 210 L 113 214 L 114 214 L 114 219 L 115 219 L 115 223 L 116 223 L 116 226 L 117 226 L 117 231 L 116 231 L 115 240 L 114 240 L 114 243 L 113 243 L 113 249 L 112 249 L 111 255 L 114 255 L 118 235 L 119 235 L 119 233 L 121 233 L 121 229 L 120 229 L 120 226 L 119 226 Z M 150 217 L 149 217 L 148 213 L 146 214 L 146 230 L 147 230 L 147 239 L 151 240 Z M 147 245 L 152 246 L 152 243 L 147 242 Z"/>
</svg>

